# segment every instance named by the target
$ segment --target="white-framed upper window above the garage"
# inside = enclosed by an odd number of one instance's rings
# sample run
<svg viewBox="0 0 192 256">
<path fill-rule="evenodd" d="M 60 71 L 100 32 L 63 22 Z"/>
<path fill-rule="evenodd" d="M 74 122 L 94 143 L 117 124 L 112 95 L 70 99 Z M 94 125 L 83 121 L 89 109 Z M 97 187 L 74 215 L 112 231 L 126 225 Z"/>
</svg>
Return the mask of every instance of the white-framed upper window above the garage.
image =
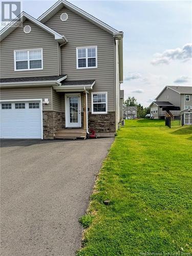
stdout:
<svg viewBox="0 0 192 256">
<path fill-rule="evenodd" d="M 42 49 L 14 51 L 15 71 L 42 69 Z"/>
</svg>

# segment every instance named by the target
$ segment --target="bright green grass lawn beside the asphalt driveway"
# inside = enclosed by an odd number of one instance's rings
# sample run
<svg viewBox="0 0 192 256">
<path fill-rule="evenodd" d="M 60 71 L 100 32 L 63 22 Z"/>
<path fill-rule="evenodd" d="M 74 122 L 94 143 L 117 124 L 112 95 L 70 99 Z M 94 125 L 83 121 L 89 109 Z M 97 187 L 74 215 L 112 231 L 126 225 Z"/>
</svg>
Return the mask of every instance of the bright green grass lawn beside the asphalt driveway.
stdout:
<svg viewBox="0 0 192 256">
<path fill-rule="evenodd" d="M 81 219 L 89 228 L 77 255 L 192 255 L 191 172 L 192 126 L 127 120 Z"/>
</svg>

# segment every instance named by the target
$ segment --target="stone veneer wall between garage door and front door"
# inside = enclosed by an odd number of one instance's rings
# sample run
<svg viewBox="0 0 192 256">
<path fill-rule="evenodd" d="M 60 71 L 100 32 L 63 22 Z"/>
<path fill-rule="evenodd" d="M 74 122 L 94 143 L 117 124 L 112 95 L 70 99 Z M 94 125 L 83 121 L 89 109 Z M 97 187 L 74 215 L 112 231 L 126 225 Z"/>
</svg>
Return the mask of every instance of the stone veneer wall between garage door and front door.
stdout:
<svg viewBox="0 0 192 256">
<path fill-rule="evenodd" d="M 65 125 L 65 113 L 56 111 L 44 111 L 42 113 L 44 139 L 54 139 L 56 130 Z"/>
</svg>

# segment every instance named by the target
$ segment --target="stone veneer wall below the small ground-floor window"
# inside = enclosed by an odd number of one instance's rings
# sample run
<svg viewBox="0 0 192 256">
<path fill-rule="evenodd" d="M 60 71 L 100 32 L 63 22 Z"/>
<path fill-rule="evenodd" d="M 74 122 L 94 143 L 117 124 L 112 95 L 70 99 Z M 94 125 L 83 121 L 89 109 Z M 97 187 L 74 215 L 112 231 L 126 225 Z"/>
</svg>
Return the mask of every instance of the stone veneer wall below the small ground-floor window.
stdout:
<svg viewBox="0 0 192 256">
<path fill-rule="evenodd" d="M 108 112 L 104 115 L 89 113 L 89 126 L 97 133 L 115 133 L 115 112 Z"/>
</svg>

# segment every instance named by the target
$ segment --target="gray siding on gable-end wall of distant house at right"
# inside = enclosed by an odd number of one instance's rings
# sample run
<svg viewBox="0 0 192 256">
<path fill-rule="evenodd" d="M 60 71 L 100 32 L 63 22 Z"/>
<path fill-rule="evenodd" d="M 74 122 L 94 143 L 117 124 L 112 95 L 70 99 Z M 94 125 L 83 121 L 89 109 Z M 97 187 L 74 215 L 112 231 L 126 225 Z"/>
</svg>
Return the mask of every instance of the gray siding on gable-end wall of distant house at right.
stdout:
<svg viewBox="0 0 192 256">
<path fill-rule="evenodd" d="M 162 92 L 162 94 L 157 98 L 157 101 L 169 101 L 175 106 L 179 106 L 181 108 L 180 94 L 169 88 Z"/>
</svg>

